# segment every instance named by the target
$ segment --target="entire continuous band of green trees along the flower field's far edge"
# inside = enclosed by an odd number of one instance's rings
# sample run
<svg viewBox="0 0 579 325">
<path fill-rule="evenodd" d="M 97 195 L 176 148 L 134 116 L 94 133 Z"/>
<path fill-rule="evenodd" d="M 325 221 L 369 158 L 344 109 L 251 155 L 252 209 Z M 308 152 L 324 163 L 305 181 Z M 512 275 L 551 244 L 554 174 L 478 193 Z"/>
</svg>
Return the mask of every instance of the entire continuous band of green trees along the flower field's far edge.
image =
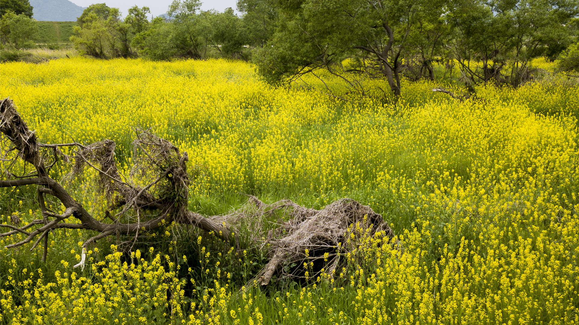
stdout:
<svg viewBox="0 0 579 325">
<path fill-rule="evenodd" d="M 82 17 L 97 7 L 114 11 L 101 3 Z M 348 74 L 357 72 L 383 78 L 400 95 L 402 75 L 434 80 L 436 62 L 457 64 L 467 84 L 519 86 L 535 77 L 530 60 L 555 60 L 579 31 L 577 0 L 240 0 L 241 17 L 199 8 L 199 0 L 175 0 L 169 20 L 151 22 L 146 7 L 131 8 L 124 22 L 97 10 L 90 22 L 79 18 L 74 42 L 101 58 L 251 57 L 269 82 L 325 70 L 363 93 L 365 84 Z M 138 25 L 135 17 L 143 17 Z M 107 49 L 95 51 L 102 38 Z"/>
</svg>

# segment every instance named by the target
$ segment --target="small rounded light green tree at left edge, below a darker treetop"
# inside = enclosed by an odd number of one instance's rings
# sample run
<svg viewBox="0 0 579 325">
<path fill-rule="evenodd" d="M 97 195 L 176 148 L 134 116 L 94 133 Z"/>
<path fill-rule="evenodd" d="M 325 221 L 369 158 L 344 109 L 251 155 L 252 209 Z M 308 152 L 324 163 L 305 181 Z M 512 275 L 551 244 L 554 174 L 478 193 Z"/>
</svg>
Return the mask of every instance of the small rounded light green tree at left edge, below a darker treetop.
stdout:
<svg viewBox="0 0 579 325">
<path fill-rule="evenodd" d="M 29 18 L 26 14 L 7 12 L 0 18 L 0 35 L 3 45 L 8 42 L 16 49 L 34 46 L 31 39 L 36 33 L 38 33 L 36 20 Z"/>
</svg>

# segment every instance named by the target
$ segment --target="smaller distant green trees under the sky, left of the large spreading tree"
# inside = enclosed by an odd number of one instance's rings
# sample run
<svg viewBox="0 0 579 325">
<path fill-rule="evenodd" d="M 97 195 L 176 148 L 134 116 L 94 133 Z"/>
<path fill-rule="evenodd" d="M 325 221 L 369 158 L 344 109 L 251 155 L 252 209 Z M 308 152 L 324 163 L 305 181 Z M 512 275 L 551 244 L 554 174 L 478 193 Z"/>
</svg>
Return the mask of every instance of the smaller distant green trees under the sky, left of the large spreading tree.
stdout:
<svg viewBox="0 0 579 325">
<path fill-rule="evenodd" d="M 169 21 L 162 17 L 149 21 L 148 7 L 134 6 L 122 20 L 116 8 L 91 5 L 78 18 L 71 40 L 81 53 L 98 58 L 245 58 L 241 20 L 233 9 L 200 12 L 200 5 L 192 0 L 173 2 Z"/>
</svg>

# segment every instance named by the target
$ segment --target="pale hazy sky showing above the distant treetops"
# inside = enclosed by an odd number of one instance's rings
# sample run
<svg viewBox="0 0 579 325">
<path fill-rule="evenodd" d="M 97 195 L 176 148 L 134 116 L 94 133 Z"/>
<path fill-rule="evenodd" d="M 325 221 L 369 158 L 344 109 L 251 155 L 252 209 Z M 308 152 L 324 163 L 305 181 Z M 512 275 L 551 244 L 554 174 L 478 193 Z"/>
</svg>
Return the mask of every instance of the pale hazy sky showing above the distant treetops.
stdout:
<svg viewBox="0 0 579 325">
<path fill-rule="evenodd" d="M 107 3 L 107 6 L 109 6 L 109 7 L 119 8 L 123 17 L 127 15 L 129 8 L 131 8 L 134 5 L 137 5 L 140 7 L 147 6 L 147 7 L 151 8 L 151 14 L 153 15 L 153 17 L 156 17 L 162 13 L 166 13 L 167 8 L 169 8 L 169 5 L 171 4 L 171 2 L 173 2 L 173 0 L 113 0 L 113 1 L 111 1 L 111 0 L 70 0 L 70 1 L 74 2 L 76 5 L 79 5 L 81 7 L 88 7 L 88 6 L 92 5 L 93 3 L 104 2 L 104 3 Z M 203 1 L 203 0 L 201 0 L 201 1 Z M 203 1 L 203 4 L 201 5 L 201 9 L 202 10 L 215 9 L 215 10 L 222 12 L 223 10 L 225 10 L 225 8 L 228 8 L 228 7 L 236 9 L 236 6 L 237 6 L 237 0 L 206 0 L 206 1 Z M 236 10 L 236 12 L 237 12 L 237 10 Z"/>
</svg>

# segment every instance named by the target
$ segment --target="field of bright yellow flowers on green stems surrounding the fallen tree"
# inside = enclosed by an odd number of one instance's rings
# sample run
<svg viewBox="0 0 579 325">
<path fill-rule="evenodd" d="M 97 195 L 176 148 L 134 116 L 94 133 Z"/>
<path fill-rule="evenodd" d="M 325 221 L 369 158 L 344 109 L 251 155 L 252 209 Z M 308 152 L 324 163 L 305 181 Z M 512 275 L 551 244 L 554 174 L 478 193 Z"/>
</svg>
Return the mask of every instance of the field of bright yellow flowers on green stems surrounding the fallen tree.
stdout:
<svg viewBox="0 0 579 325">
<path fill-rule="evenodd" d="M 448 83 L 405 82 L 394 105 L 275 88 L 239 61 L 78 57 L 0 71 L 0 96 L 42 142 L 112 139 L 128 164 L 134 128 L 153 127 L 188 152 L 192 210 L 228 212 L 240 193 L 313 208 L 350 197 L 404 248 L 376 235 L 333 279 L 240 290 L 263 253 L 174 224 L 131 256 L 102 240 L 83 270 L 72 265 L 86 231 L 54 231 L 46 263 L 2 237 L 0 323 L 579 324 L 577 86 L 479 86 L 460 102 L 431 91 Z M 90 184 L 63 183 L 102 210 Z M 0 189 L 0 223 L 38 217 L 33 190 Z"/>
</svg>

